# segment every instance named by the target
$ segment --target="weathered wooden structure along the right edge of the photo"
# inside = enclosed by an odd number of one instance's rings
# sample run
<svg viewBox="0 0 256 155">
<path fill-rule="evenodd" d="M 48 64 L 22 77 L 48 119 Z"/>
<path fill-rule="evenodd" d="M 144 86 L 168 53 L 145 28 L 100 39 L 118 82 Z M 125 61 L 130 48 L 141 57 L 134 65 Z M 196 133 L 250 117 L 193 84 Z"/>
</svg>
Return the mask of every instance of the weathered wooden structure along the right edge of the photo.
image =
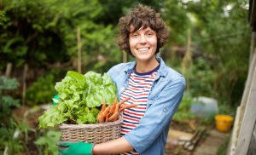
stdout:
<svg viewBox="0 0 256 155">
<path fill-rule="evenodd" d="M 249 70 L 227 155 L 256 154 L 256 0 L 250 0 L 249 4 L 249 23 L 253 29 Z"/>
</svg>

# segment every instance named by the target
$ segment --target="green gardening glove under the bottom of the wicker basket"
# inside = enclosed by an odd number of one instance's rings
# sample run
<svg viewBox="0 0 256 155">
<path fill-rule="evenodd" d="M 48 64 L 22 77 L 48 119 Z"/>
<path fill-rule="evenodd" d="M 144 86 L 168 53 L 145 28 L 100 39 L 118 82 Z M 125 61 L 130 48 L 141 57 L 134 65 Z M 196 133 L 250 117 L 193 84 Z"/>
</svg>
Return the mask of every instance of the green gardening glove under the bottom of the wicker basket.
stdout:
<svg viewBox="0 0 256 155">
<path fill-rule="evenodd" d="M 60 155 L 92 155 L 92 147 L 91 143 L 84 142 L 75 142 L 75 143 L 60 143 L 58 150 Z"/>
</svg>

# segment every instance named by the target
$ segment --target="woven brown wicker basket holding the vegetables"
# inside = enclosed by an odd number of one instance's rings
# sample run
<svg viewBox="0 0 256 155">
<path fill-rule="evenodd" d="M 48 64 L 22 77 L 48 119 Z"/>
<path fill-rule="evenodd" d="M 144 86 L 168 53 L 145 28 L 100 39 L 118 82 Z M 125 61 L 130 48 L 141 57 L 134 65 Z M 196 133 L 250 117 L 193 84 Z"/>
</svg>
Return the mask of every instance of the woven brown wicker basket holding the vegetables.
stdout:
<svg viewBox="0 0 256 155">
<path fill-rule="evenodd" d="M 62 123 L 61 141 L 84 141 L 94 144 L 114 140 L 120 137 L 122 117 L 108 123 L 66 124 Z"/>
</svg>

